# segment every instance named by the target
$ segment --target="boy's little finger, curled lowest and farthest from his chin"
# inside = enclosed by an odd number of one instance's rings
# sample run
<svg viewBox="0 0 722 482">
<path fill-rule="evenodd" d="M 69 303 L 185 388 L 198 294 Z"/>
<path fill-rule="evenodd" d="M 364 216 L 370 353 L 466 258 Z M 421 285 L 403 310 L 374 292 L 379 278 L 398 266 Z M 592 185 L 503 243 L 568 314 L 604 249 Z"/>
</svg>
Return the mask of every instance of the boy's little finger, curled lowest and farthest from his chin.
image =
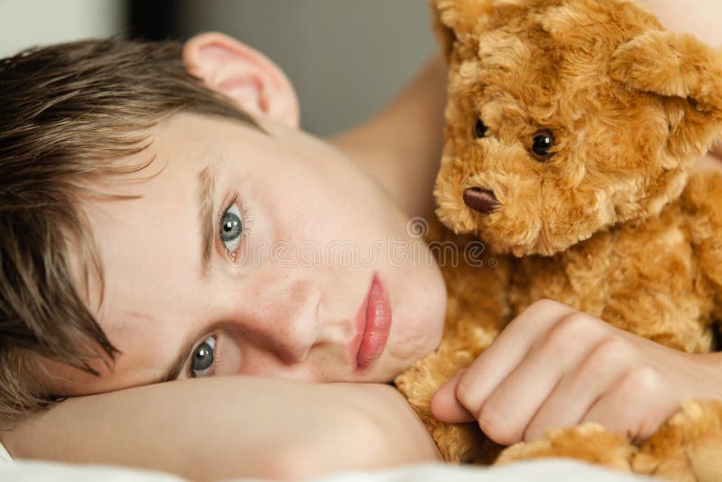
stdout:
<svg viewBox="0 0 722 482">
<path fill-rule="evenodd" d="M 653 435 L 677 407 L 671 390 L 664 389 L 662 375 L 650 367 L 627 372 L 582 417 L 607 431 L 644 440 Z"/>
</svg>

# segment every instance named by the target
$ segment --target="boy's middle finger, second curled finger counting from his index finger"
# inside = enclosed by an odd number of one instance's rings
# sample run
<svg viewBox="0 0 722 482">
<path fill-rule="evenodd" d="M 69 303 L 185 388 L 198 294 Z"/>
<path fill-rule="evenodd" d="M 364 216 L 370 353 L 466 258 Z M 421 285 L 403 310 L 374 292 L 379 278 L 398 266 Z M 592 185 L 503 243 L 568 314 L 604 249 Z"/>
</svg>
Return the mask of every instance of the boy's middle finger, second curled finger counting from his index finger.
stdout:
<svg viewBox="0 0 722 482">
<path fill-rule="evenodd" d="M 588 319 L 585 323 L 558 323 L 489 395 L 477 413 L 477 420 L 490 439 L 502 445 L 523 439 L 555 387 L 601 342 L 600 331 L 588 329 L 590 323 L 599 321 Z"/>
</svg>

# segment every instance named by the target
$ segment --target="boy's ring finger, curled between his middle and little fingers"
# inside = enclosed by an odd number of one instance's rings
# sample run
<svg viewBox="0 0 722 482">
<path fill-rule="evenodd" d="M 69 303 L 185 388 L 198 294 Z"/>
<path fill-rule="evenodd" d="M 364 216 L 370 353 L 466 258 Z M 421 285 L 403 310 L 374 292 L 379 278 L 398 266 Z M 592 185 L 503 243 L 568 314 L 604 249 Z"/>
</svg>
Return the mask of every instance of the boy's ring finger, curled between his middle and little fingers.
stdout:
<svg viewBox="0 0 722 482">
<path fill-rule="evenodd" d="M 579 424 L 591 406 L 614 387 L 630 365 L 624 341 L 606 338 L 588 353 L 579 368 L 565 376 L 542 404 L 523 439 L 541 439 L 550 428 Z"/>
</svg>

